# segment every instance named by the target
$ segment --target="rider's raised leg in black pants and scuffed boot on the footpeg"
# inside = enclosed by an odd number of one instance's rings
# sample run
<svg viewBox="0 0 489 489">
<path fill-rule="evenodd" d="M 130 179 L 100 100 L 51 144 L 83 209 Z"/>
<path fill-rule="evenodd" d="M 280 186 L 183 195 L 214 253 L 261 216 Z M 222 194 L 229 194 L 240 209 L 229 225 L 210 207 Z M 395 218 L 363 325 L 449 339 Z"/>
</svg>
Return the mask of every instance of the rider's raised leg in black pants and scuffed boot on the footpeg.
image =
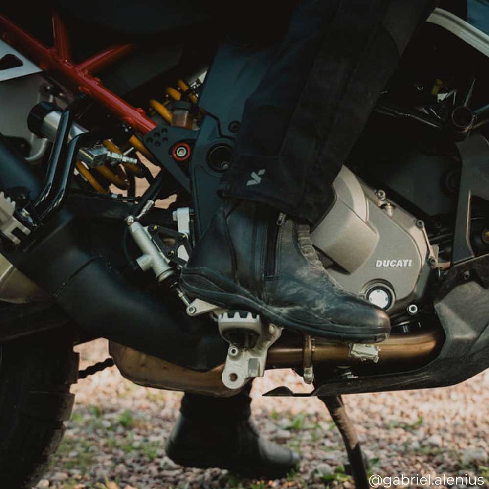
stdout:
<svg viewBox="0 0 489 489">
<path fill-rule="evenodd" d="M 304 0 L 247 101 L 227 198 L 182 288 L 343 341 L 389 333 L 384 311 L 333 284 L 311 244 L 331 183 L 432 0 Z M 279 212 L 282 216 L 276 224 Z M 332 230 L 334 232 L 334 229 Z"/>
</svg>

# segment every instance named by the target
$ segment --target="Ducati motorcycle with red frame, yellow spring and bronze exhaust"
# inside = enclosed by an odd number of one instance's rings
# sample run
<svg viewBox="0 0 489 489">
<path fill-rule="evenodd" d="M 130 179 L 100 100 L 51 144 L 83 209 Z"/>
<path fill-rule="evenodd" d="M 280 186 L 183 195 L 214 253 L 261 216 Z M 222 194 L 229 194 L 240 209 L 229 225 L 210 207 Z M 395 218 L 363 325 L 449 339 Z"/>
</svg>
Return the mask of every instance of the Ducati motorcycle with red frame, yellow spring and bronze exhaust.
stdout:
<svg viewBox="0 0 489 489">
<path fill-rule="evenodd" d="M 42 475 L 70 385 L 114 363 L 136 384 L 212 396 L 291 368 L 311 393 L 267 395 L 319 396 L 345 426 L 341 394 L 447 386 L 489 366 L 488 35 L 435 9 L 334 181 L 314 245 L 392 323 L 378 345 L 343 344 L 178 285 L 274 46 L 222 39 L 186 2 L 168 16 L 107 8 L 0 15 L 5 487 Z M 111 358 L 78 372 L 73 346 L 97 337 Z"/>
</svg>

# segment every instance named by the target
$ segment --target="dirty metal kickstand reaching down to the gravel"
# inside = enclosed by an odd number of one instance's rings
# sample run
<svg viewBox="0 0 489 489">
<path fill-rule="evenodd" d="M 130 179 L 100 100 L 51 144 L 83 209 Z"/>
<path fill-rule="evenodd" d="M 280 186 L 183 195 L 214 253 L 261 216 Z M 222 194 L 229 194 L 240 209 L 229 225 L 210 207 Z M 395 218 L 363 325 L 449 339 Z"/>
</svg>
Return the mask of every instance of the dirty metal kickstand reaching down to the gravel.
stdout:
<svg viewBox="0 0 489 489">
<path fill-rule="evenodd" d="M 360 442 L 358 441 L 355 426 L 346 413 L 341 396 L 320 396 L 319 399 L 328 408 L 336 427 L 341 433 L 348 454 L 348 460 L 350 461 L 350 468 L 356 489 L 369 489 L 370 484 L 368 482 L 367 467 Z"/>
</svg>

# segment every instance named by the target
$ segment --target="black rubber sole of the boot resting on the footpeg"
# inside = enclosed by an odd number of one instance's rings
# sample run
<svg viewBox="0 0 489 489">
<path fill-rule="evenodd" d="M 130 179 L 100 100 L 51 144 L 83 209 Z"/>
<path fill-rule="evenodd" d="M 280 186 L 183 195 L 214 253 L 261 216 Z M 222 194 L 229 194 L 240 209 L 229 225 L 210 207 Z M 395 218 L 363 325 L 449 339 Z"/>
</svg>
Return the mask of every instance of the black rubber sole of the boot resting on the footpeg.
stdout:
<svg viewBox="0 0 489 489">
<path fill-rule="evenodd" d="M 287 317 L 286 313 L 278 314 L 277 311 L 274 311 L 234 283 L 226 281 L 226 286 L 229 286 L 230 289 L 234 289 L 233 291 L 229 292 L 223 290 L 209 278 L 209 275 L 214 274 L 212 270 L 205 270 L 205 275 L 202 271 L 203 270 L 200 269 L 199 273 L 195 271 L 190 272 L 188 269 L 184 268 L 180 277 L 180 287 L 189 295 L 198 297 L 199 299 L 215 304 L 216 306 L 227 309 L 252 311 L 260 314 L 271 323 L 283 326 L 289 330 L 310 334 L 311 336 L 320 336 L 343 343 L 378 343 L 389 337 L 390 327 L 386 330 L 384 326 L 367 327 L 361 325 L 346 325 L 325 320 L 324 323 L 321 323 L 321 327 L 318 328 L 315 325 L 298 323 L 293 318 Z M 220 277 L 220 279 L 220 282 L 222 282 L 222 277 Z M 359 328 L 363 331 L 359 332 Z M 369 331 L 365 331 L 367 328 Z"/>
</svg>

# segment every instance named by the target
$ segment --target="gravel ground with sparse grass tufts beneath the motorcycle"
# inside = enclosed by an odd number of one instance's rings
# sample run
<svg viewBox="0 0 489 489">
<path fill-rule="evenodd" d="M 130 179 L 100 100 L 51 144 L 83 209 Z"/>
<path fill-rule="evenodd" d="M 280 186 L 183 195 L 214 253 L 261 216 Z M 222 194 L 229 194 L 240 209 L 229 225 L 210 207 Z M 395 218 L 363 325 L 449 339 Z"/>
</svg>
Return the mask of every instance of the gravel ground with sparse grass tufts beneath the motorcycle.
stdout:
<svg viewBox="0 0 489 489">
<path fill-rule="evenodd" d="M 85 367 L 107 356 L 97 340 L 79 348 Z M 345 474 L 341 439 L 321 402 L 262 398 L 277 385 L 304 390 L 291 371 L 267 372 L 253 389 L 255 420 L 268 438 L 302 454 L 300 470 L 282 480 L 240 479 L 225 470 L 179 467 L 164 443 L 178 415 L 181 393 L 133 385 L 115 367 L 73 387 L 76 403 L 51 470 L 38 488 L 353 488 Z M 382 477 L 465 476 L 489 487 L 489 371 L 458 386 L 345 397 L 371 462 Z M 394 484 L 400 482 L 400 484 Z M 420 481 L 423 482 L 423 481 Z M 422 486 L 393 480 L 391 487 Z M 467 484 L 451 487 L 467 487 Z M 470 481 L 469 481 L 470 482 Z M 388 486 L 385 481 L 384 486 Z"/>
</svg>

